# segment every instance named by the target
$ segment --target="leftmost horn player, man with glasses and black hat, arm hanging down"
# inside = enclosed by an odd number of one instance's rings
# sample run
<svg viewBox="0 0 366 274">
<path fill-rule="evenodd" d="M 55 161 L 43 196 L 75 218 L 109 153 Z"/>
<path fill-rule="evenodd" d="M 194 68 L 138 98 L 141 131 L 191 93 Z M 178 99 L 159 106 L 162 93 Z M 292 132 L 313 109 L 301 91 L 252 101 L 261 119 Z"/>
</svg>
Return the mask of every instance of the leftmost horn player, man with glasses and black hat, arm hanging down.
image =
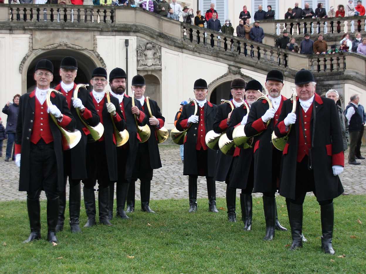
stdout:
<svg viewBox="0 0 366 274">
<path fill-rule="evenodd" d="M 34 80 L 37 83 L 36 89 L 20 97 L 15 134 L 16 165 L 20 167 L 19 190 L 27 191 L 31 231 L 29 238 L 24 242 L 41 239 L 42 190 L 47 197 L 47 240 L 57 242 L 59 191 L 64 187 L 63 144 L 62 134 L 48 113 L 57 119 L 62 128 L 69 131 L 75 130 L 76 122 L 64 96 L 52 92 L 52 105 L 47 105 L 47 92 L 53 80 L 51 61 L 38 61 Z"/>
</svg>

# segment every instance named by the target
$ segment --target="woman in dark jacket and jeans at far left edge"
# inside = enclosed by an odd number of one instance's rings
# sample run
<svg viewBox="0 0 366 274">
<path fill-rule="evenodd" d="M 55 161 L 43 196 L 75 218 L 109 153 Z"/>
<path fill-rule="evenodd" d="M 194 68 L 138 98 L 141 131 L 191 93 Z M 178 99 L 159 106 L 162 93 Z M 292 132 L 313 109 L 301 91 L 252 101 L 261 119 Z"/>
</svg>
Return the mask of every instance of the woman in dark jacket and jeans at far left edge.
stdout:
<svg viewBox="0 0 366 274">
<path fill-rule="evenodd" d="M 13 102 L 7 102 L 3 108 L 3 113 L 8 115 L 8 118 L 6 120 L 6 134 L 8 134 L 8 142 L 6 145 L 5 162 L 8 162 L 10 158 L 14 160 L 14 151 L 13 153 L 11 152 L 15 141 L 15 130 L 19 111 L 19 99 L 19 94 L 14 95 Z"/>
</svg>

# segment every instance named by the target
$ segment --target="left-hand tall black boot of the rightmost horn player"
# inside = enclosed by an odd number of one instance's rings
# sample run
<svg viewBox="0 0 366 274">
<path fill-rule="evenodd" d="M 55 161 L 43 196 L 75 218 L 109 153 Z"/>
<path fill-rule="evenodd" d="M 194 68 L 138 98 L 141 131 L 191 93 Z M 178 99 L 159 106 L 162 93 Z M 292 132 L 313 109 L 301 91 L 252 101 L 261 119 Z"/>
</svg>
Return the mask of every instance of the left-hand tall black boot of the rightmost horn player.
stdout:
<svg viewBox="0 0 366 274">
<path fill-rule="evenodd" d="M 291 227 L 291 237 L 292 244 L 290 250 L 296 250 L 298 247 L 302 247 L 302 216 L 303 210 L 302 205 L 296 205 L 295 203 L 289 202 L 288 212 L 290 227 Z"/>
</svg>

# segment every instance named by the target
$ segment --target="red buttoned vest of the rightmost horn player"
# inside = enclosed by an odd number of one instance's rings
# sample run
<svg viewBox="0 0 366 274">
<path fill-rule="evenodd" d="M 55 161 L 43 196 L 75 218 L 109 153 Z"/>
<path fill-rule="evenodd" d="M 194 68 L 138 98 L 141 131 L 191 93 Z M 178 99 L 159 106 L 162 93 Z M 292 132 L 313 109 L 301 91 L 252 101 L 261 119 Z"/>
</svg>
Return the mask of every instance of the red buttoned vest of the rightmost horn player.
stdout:
<svg viewBox="0 0 366 274">
<path fill-rule="evenodd" d="M 298 153 L 297 153 L 297 161 L 301 162 L 305 155 L 309 156 L 309 149 L 311 148 L 311 135 L 310 135 L 310 123 L 311 123 L 311 115 L 313 114 L 313 104 L 309 107 L 309 109 L 304 111 L 302 107 L 300 107 L 300 115 L 302 115 L 302 119 L 304 121 L 305 126 L 305 136 L 304 138 L 303 130 L 302 130 L 302 122 L 299 117 L 299 144 L 298 144 Z"/>
</svg>

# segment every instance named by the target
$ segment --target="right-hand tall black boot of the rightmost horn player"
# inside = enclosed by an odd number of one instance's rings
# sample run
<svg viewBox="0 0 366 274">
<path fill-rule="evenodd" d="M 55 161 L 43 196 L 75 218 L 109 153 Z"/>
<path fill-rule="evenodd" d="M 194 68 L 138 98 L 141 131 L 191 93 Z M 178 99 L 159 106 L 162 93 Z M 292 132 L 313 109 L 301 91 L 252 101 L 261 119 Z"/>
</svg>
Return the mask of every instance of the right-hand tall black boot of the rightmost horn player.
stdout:
<svg viewBox="0 0 366 274">
<path fill-rule="evenodd" d="M 333 202 L 328 205 L 320 206 L 321 219 L 321 248 L 325 253 L 334 255 L 335 251 L 332 246 L 333 225 L 334 225 L 334 208 Z"/>
</svg>

